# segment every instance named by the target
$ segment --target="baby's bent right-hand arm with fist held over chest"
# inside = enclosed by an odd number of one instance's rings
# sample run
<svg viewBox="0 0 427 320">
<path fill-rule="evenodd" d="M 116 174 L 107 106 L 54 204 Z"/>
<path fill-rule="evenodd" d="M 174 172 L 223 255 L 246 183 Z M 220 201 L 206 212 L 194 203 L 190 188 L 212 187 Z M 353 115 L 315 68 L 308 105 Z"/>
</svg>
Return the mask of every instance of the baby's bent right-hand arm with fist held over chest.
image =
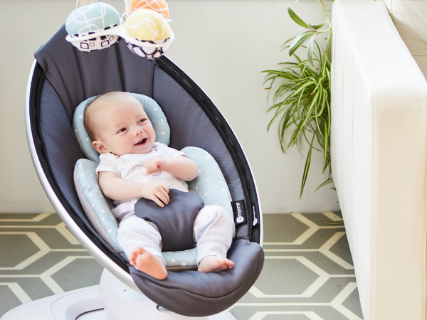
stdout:
<svg viewBox="0 0 427 320">
<path fill-rule="evenodd" d="M 199 175 L 199 168 L 196 162 L 186 156 L 178 156 L 174 159 L 156 157 L 147 161 L 145 164 L 147 174 L 155 174 L 160 171 L 166 171 L 176 178 L 184 181 L 191 181 Z"/>
</svg>

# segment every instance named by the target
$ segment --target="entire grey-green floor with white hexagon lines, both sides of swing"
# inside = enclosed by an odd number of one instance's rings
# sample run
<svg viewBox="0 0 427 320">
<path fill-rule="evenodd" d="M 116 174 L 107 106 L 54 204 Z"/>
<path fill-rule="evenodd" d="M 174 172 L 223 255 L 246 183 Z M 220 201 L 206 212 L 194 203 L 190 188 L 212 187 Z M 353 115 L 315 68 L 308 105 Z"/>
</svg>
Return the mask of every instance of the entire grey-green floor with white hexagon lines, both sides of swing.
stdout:
<svg viewBox="0 0 427 320">
<path fill-rule="evenodd" d="M 231 308 L 238 320 L 363 319 L 339 213 L 268 214 L 265 264 Z M 0 214 L 0 316 L 99 283 L 102 267 L 54 213 Z"/>
</svg>

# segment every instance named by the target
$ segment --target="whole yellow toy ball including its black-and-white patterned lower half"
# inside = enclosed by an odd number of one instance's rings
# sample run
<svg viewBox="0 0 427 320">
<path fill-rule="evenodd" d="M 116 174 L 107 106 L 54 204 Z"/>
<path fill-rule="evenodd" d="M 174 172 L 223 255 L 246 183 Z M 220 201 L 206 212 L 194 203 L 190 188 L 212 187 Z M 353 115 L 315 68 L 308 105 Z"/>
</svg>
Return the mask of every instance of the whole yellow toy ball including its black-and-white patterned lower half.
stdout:
<svg viewBox="0 0 427 320">
<path fill-rule="evenodd" d="M 126 39 L 127 46 L 144 58 L 159 58 L 174 41 L 166 19 L 156 11 L 137 9 L 125 21 L 127 34 L 133 39 Z"/>
</svg>

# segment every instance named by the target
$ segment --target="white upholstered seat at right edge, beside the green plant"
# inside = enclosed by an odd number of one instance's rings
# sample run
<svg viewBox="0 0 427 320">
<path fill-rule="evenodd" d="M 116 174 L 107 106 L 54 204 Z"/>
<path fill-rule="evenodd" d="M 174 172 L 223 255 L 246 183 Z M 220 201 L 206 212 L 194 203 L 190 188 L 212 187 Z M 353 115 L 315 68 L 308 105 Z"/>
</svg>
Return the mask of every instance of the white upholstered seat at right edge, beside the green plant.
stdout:
<svg viewBox="0 0 427 320">
<path fill-rule="evenodd" d="M 427 1 L 332 16 L 332 173 L 364 320 L 426 320 Z"/>
</svg>

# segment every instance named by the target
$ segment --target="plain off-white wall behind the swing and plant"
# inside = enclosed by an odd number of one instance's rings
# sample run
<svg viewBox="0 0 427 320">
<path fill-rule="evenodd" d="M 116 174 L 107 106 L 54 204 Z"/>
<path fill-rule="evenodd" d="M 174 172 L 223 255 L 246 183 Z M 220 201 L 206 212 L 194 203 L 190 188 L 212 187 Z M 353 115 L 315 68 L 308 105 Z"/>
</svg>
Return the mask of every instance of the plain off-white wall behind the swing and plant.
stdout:
<svg viewBox="0 0 427 320">
<path fill-rule="evenodd" d="M 120 0 L 106 2 L 120 12 L 124 8 Z M 231 124 L 253 169 L 263 212 L 339 210 L 332 185 L 314 193 L 327 178 L 320 173 L 321 154 L 314 154 L 300 200 L 305 159 L 296 149 L 282 154 L 277 127 L 266 132 L 271 115 L 265 113 L 267 91 L 261 71 L 288 60 L 280 47 L 302 31 L 286 8 L 290 4 L 307 22 L 317 24 L 324 21 L 318 2 L 169 0 L 168 4 L 176 40 L 167 55 L 200 85 Z M 56 32 L 74 5 L 75 0 L 0 1 L 2 22 L 10 26 L 0 50 L 0 148 L 12 159 L 11 163 L 0 160 L 0 212 L 53 210 L 28 153 L 23 106 L 33 51 Z M 21 23 L 16 23 L 18 18 Z"/>
</svg>

